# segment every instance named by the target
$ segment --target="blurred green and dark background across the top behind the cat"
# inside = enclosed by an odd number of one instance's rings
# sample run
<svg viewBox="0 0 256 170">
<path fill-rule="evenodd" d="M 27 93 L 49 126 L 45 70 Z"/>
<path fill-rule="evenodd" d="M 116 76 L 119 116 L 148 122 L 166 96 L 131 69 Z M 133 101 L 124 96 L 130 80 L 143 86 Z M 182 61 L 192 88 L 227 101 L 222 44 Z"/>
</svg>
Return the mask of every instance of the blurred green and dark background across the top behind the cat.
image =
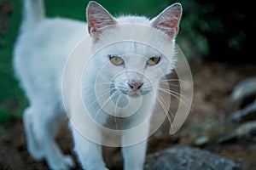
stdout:
<svg viewBox="0 0 256 170">
<path fill-rule="evenodd" d="M 49 17 L 85 20 L 84 0 L 46 0 Z M 153 18 L 173 0 L 98 0 L 113 16 L 139 14 Z M 183 19 L 177 44 L 191 61 L 252 62 L 256 22 L 254 1 L 181 0 Z M 15 80 L 12 53 L 22 17 L 22 0 L 0 0 L 0 124 L 20 118 L 28 105 Z"/>
</svg>

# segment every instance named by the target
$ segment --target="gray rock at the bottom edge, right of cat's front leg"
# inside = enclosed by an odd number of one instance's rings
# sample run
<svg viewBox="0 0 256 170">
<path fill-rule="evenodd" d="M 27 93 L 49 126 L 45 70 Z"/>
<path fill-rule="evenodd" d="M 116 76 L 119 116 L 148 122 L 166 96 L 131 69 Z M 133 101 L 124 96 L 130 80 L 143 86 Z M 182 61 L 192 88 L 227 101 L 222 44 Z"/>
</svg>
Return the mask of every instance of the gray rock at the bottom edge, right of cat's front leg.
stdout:
<svg viewBox="0 0 256 170">
<path fill-rule="evenodd" d="M 145 170 L 236 170 L 240 165 L 207 150 L 179 145 L 149 155 Z"/>
</svg>

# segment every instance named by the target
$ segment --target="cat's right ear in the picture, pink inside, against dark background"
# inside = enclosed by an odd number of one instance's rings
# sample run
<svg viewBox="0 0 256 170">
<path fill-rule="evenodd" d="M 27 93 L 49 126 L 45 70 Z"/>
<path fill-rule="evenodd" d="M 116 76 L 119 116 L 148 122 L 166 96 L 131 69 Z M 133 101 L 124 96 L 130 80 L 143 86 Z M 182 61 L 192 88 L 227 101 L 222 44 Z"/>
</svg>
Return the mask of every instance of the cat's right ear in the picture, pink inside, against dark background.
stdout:
<svg viewBox="0 0 256 170">
<path fill-rule="evenodd" d="M 171 38 L 176 37 L 179 29 L 179 21 L 181 19 L 182 10 L 183 9 L 180 3 L 173 3 L 157 17 L 151 20 L 151 26 L 163 31 Z"/>
</svg>

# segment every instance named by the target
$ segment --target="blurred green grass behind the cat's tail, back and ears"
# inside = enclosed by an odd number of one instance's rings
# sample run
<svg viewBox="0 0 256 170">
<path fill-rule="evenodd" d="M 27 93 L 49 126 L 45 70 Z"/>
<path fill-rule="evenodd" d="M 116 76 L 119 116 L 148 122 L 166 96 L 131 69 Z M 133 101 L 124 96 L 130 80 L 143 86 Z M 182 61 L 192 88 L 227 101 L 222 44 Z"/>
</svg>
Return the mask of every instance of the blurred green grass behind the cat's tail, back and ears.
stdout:
<svg viewBox="0 0 256 170">
<path fill-rule="evenodd" d="M 18 35 L 22 15 L 22 0 L 0 0 L 0 3 L 12 4 L 12 13 L 8 18 L 8 31 L 0 37 L 0 124 L 9 124 L 20 119 L 28 104 L 19 82 L 15 79 L 12 58 L 13 48 Z M 84 0 L 46 0 L 46 13 L 49 17 L 61 16 L 85 20 L 85 8 L 89 1 Z M 166 0 L 99 0 L 111 14 L 145 14 L 153 17 L 167 5 Z M 1 24 L 1 23 L 0 23 Z"/>
</svg>

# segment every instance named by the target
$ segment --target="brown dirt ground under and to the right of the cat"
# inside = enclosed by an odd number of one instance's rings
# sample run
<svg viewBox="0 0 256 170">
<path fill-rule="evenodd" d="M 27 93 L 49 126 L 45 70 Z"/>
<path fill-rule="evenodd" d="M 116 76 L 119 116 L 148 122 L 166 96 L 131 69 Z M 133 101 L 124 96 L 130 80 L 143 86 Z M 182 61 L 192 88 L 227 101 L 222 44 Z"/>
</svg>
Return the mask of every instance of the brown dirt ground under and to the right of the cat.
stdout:
<svg viewBox="0 0 256 170">
<path fill-rule="evenodd" d="M 189 117 L 175 135 L 167 133 L 169 125 L 164 123 L 161 127 L 162 133 L 149 138 L 148 154 L 175 144 L 193 146 L 194 139 L 207 135 L 210 139 L 207 144 L 200 146 L 202 149 L 241 162 L 242 169 L 256 169 L 255 140 L 241 139 L 231 144 L 214 142 L 225 130 L 225 119 L 234 110 L 234 106 L 230 104 L 230 94 L 234 86 L 243 78 L 255 76 L 256 66 L 207 62 L 191 67 L 195 91 Z M 73 142 L 66 125 L 67 122 L 63 124 L 57 141 L 66 154 L 73 154 Z M 21 120 L 15 120 L 7 127 L 1 126 L 0 139 L 0 169 L 48 169 L 44 161 L 33 161 L 28 155 Z M 109 169 L 122 168 L 119 148 L 104 148 L 104 157 Z"/>
</svg>

